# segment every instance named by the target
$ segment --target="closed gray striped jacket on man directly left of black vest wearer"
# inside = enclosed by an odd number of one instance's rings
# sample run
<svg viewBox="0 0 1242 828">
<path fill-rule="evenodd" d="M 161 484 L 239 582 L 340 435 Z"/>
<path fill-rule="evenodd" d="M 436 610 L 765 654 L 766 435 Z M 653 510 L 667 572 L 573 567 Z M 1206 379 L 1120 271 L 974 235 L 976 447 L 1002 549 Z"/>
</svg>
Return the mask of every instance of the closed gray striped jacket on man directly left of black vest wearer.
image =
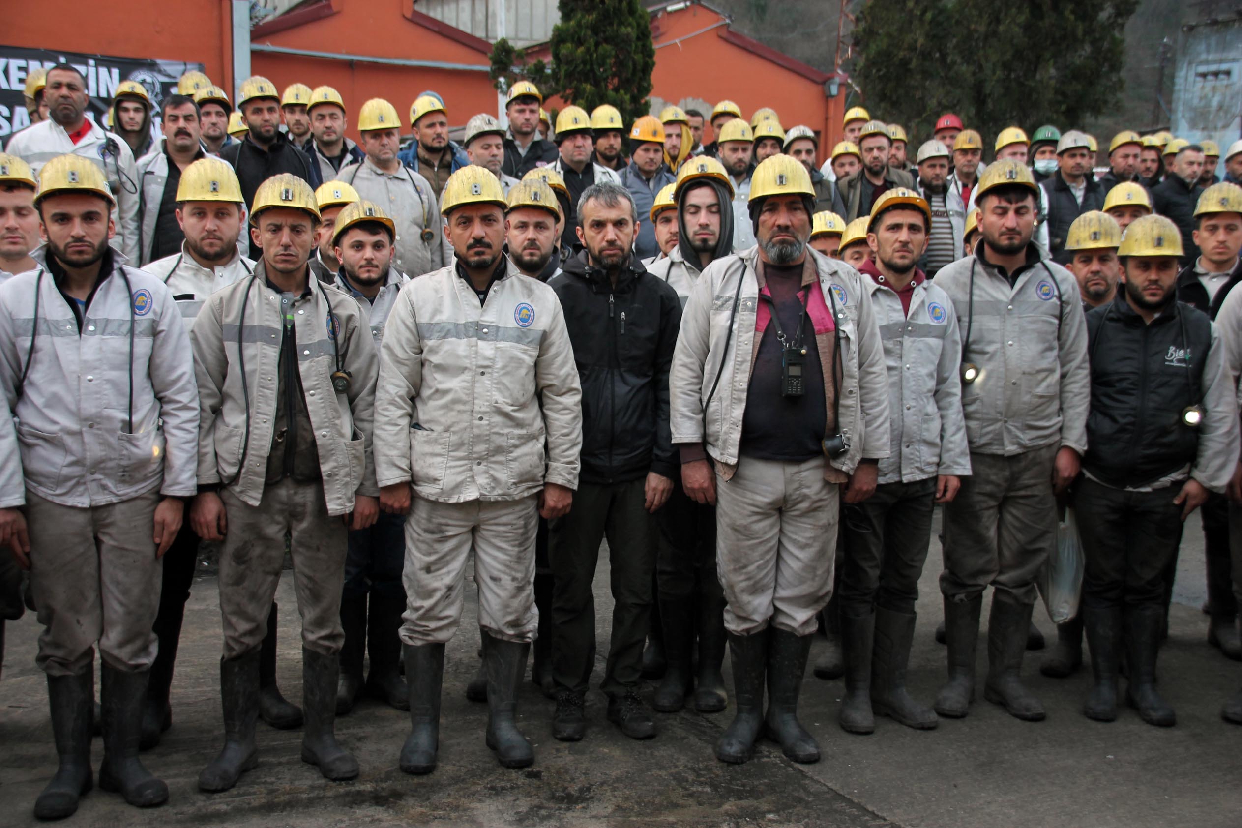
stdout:
<svg viewBox="0 0 1242 828">
<path fill-rule="evenodd" d="M 970 451 L 1009 457 L 1056 444 L 1086 452 L 1087 322 L 1069 271 L 1043 259 L 1010 287 L 994 266 L 968 256 L 943 267 L 935 284 L 958 313 L 963 361 L 979 367 L 961 390 Z"/>
</svg>

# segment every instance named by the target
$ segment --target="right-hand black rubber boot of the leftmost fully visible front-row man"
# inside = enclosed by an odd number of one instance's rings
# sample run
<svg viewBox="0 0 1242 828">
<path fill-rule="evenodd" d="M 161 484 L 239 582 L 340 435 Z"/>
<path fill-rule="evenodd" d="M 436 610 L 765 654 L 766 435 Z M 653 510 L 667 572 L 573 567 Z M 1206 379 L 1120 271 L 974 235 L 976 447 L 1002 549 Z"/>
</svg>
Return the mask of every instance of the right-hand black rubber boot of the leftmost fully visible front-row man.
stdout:
<svg viewBox="0 0 1242 828">
<path fill-rule="evenodd" d="M 119 793 L 139 808 L 164 804 L 168 786 L 138 758 L 148 672 L 123 673 L 104 663 L 101 679 L 103 763 L 99 766 L 99 790 Z"/>
</svg>

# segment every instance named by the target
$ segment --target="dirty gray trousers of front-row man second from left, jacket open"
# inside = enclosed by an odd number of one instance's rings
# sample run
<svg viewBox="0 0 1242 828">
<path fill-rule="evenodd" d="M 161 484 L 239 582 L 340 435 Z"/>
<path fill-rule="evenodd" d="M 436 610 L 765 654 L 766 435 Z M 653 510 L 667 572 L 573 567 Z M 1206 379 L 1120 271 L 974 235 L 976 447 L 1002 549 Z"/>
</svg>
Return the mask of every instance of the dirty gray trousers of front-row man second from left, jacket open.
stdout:
<svg viewBox="0 0 1242 828">
<path fill-rule="evenodd" d="M 340 590 L 345 582 L 345 523 L 328 514 L 323 484 L 284 478 L 263 488 L 258 506 L 229 489 L 220 493 L 229 521 L 220 549 L 220 616 L 225 658 L 258 649 L 284 565 L 284 535 L 293 557 L 293 588 L 302 616 L 302 646 L 334 655 L 345 641 Z"/>
</svg>

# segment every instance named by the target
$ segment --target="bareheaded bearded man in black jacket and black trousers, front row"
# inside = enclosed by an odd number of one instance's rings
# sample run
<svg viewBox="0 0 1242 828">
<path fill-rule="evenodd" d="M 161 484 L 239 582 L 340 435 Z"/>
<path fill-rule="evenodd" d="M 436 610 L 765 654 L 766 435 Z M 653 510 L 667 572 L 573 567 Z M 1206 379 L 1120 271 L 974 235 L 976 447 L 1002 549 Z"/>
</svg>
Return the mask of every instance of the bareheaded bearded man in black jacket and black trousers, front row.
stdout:
<svg viewBox="0 0 1242 828">
<path fill-rule="evenodd" d="M 656 725 L 638 696 L 656 566 L 651 513 L 668 499 L 679 472 L 669 433 L 668 372 L 682 304 L 632 254 L 638 214 L 625 187 L 587 187 L 578 216 L 585 250 L 549 282 L 565 310 L 584 391 L 574 509 L 549 523 L 558 694 L 553 735 L 578 741 L 586 732 L 582 696 L 595 665 L 591 583 L 606 536 L 615 606 L 601 689 L 609 696 L 609 720 L 632 739 L 651 739 Z"/>
</svg>

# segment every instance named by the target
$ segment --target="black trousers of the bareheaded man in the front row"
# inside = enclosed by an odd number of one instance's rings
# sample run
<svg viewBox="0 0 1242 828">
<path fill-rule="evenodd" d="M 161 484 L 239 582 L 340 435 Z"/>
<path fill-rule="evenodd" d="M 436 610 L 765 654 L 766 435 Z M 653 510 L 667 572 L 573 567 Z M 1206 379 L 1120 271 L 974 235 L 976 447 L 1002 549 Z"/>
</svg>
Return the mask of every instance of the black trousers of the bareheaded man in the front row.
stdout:
<svg viewBox="0 0 1242 828">
<path fill-rule="evenodd" d="M 592 585 L 605 538 L 614 605 L 600 689 L 611 696 L 625 695 L 641 680 L 658 542 L 645 503 L 645 477 L 626 483 L 581 483 L 569 514 L 548 521 L 554 578 L 551 669 L 558 690 L 581 695 L 590 683 L 595 667 Z"/>
</svg>

